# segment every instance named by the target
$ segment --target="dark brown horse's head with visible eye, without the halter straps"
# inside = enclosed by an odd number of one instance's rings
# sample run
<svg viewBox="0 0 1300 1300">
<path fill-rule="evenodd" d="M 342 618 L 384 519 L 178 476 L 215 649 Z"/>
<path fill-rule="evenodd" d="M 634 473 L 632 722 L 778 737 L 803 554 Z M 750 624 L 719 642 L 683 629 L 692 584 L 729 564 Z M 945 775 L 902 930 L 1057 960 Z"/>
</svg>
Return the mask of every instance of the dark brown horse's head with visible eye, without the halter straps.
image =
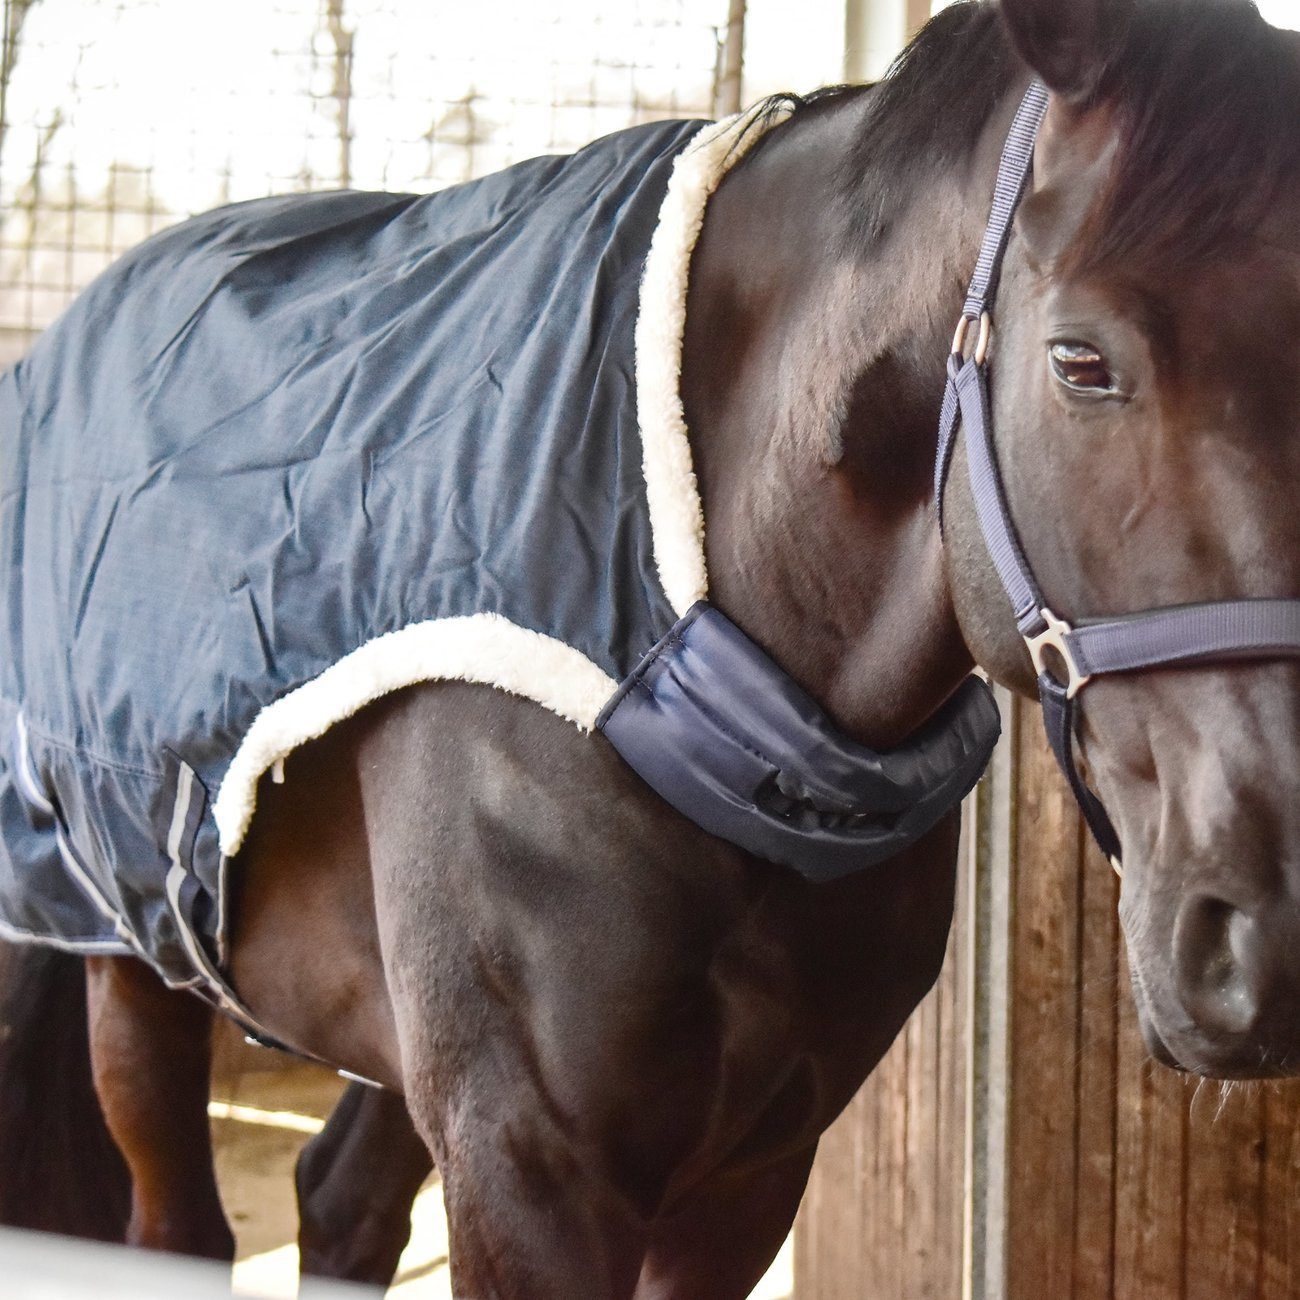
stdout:
<svg viewBox="0 0 1300 1300">
<path fill-rule="evenodd" d="M 1002 9 L 1052 91 L 991 354 L 1045 599 L 1080 621 L 1300 597 L 1300 38 L 1238 0 Z M 945 507 L 962 632 L 1032 693 L 965 468 Z M 1123 848 L 1148 1045 L 1201 1074 L 1300 1072 L 1300 663 L 1098 679 L 1076 744 Z"/>
</svg>

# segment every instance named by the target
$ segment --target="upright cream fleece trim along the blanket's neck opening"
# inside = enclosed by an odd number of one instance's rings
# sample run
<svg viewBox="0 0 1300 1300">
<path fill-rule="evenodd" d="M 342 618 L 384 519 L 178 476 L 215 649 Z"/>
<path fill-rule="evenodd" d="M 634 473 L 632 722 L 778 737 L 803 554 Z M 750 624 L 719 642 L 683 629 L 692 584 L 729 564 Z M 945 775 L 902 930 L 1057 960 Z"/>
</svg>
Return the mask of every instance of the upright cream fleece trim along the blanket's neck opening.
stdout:
<svg viewBox="0 0 1300 1300">
<path fill-rule="evenodd" d="M 723 177 L 762 136 L 760 107 L 705 127 L 673 165 L 650 240 L 637 317 L 637 419 L 655 563 L 668 603 L 681 618 L 708 594 L 705 512 L 681 406 L 690 257 L 705 207 Z M 789 116 L 771 113 L 766 126 Z M 746 127 L 751 127 L 746 131 Z"/>
</svg>

